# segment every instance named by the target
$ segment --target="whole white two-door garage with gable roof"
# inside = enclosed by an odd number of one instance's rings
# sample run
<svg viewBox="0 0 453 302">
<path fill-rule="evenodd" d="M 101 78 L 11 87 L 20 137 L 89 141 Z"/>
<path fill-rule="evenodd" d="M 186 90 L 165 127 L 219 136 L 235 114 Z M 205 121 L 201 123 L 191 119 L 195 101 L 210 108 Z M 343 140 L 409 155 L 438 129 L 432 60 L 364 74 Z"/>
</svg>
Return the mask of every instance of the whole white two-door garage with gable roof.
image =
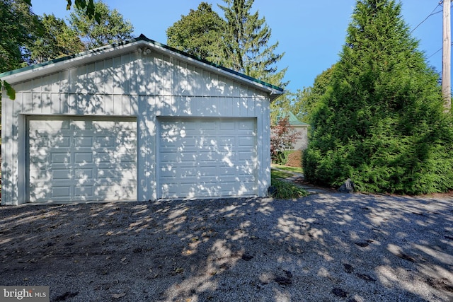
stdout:
<svg viewBox="0 0 453 302">
<path fill-rule="evenodd" d="M 268 192 L 281 88 L 144 35 L 0 79 L 1 204 Z"/>
</svg>

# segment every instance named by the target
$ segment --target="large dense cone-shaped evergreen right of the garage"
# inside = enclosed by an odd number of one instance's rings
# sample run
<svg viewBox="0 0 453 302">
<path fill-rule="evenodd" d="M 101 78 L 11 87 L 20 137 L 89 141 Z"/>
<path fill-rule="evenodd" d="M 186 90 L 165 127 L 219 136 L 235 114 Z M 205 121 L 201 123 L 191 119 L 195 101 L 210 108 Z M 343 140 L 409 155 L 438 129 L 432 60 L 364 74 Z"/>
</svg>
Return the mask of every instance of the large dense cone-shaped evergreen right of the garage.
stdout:
<svg viewBox="0 0 453 302">
<path fill-rule="evenodd" d="M 453 188 L 452 124 L 437 74 L 391 0 L 357 0 L 312 120 L 307 180 L 420 194 Z"/>
</svg>

